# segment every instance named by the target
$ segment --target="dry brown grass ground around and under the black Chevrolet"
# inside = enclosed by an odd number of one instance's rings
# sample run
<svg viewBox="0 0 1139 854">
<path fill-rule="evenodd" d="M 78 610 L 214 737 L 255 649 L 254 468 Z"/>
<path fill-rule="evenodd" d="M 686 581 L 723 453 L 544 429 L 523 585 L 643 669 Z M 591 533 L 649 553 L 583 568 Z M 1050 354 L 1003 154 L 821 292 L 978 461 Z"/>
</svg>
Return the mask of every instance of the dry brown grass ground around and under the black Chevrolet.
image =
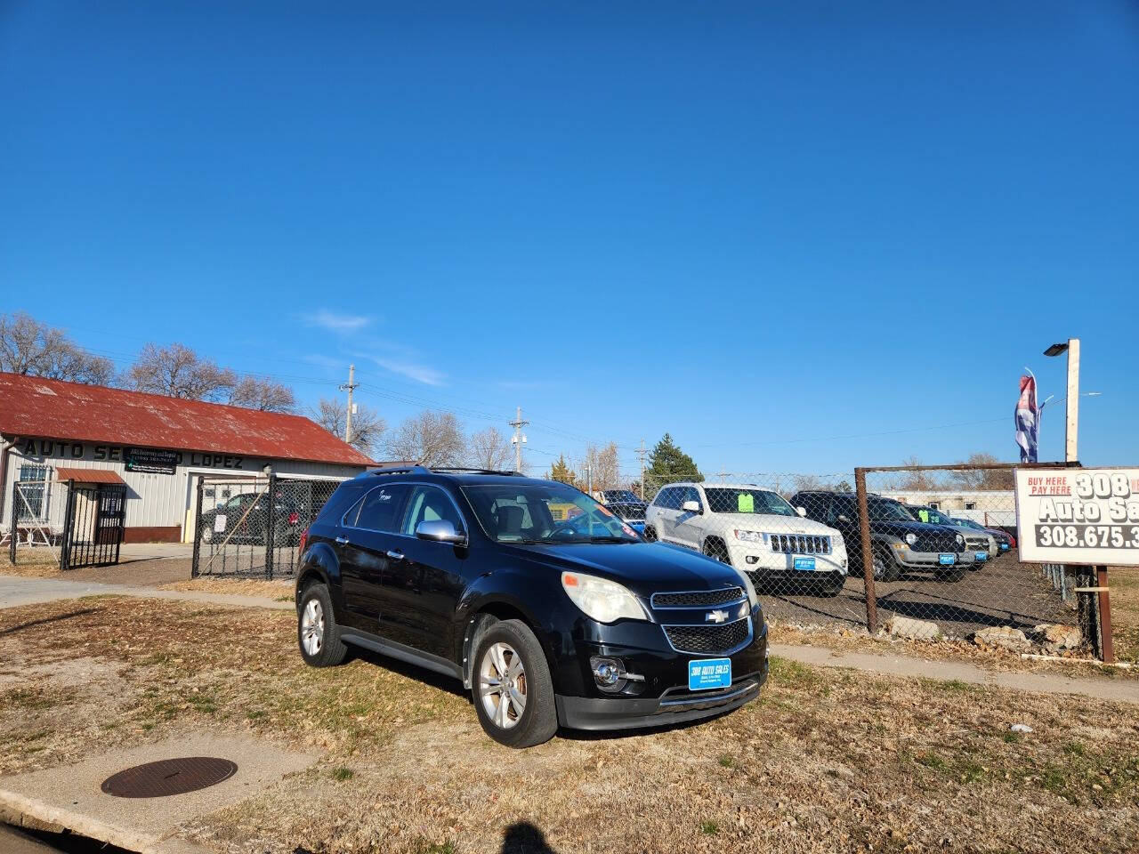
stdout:
<svg viewBox="0 0 1139 854">
<path fill-rule="evenodd" d="M 762 698 L 730 715 L 515 752 L 482 733 L 458 683 L 370 655 L 312 670 L 295 646 L 289 611 L 113 598 L 0 611 L 0 774 L 202 728 L 322 753 L 183 828 L 231 854 L 1139 845 L 1133 707 L 776 659 Z"/>
</svg>

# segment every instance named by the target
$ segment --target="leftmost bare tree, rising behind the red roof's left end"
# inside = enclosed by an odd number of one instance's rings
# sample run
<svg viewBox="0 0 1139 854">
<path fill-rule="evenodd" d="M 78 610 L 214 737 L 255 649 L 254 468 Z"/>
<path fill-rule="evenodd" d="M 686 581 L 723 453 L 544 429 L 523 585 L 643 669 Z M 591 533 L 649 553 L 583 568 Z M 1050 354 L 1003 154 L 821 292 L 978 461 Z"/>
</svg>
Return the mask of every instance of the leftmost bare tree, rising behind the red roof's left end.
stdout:
<svg viewBox="0 0 1139 854">
<path fill-rule="evenodd" d="M 109 385 L 114 366 L 30 314 L 0 314 L 0 370 L 88 385 Z"/>
</svg>

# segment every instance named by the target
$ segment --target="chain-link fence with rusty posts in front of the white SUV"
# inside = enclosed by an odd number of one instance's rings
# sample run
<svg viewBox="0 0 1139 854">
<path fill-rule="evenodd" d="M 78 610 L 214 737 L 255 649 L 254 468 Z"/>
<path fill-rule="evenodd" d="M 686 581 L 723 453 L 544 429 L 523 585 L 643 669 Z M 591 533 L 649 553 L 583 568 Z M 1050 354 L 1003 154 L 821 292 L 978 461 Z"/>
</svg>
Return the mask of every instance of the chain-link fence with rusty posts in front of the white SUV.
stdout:
<svg viewBox="0 0 1139 854">
<path fill-rule="evenodd" d="M 1099 650 L 1090 570 L 1019 560 L 1013 470 L 910 466 L 664 484 L 645 536 L 743 569 L 780 622 L 1030 655 Z"/>
</svg>

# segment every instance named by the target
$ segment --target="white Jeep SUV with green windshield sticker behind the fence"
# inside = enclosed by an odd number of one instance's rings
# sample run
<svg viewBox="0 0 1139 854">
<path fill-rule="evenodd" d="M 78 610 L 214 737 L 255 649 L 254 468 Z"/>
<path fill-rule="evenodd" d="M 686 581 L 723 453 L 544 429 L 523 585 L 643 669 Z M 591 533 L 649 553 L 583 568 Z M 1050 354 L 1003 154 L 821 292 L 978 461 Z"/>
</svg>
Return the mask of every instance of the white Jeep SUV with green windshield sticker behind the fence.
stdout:
<svg viewBox="0 0 1139 854">
<path fill-rule="evenodd" d="M 645 539 L 731 564 L 756 590 L 789 592 L 793 582 L 837 596 L 846 581 L 842 534 L 802 518 L 781 495 L 752 484 L 662 486 L 645 514 Z"/>
</svg>

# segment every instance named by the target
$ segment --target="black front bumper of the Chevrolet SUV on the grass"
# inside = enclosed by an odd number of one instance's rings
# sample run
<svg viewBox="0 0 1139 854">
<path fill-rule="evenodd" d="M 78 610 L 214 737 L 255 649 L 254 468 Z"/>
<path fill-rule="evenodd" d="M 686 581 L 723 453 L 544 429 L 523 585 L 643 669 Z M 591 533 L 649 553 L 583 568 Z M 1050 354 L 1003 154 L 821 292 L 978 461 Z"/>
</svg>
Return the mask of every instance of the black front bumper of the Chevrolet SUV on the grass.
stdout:
<svg viewBox="0 0 1139 854">
<path fill-rule="evenodd" d="M 762 621 L 759 608 L 754 616 Z M 579 683 L 580 696 L 558 693 L 555 703 L 558 722 L 576 730 L 620 730 L 667 726 L 730 712 L 760 695 L 768 678 L 768 629 L 765 622 L 753 627 L 752 640 L 729 656 L 645 649 L 615 643 L 577 641 L 576 659 L 587 664 L 591 656 L 618 658 L 630 673 L 644 676 L 630 682 L 626 690 L 606 695 L 593 684 L 591 674 Z M 710 691 L 688 690 L 688 663 L 702 658 L 731 659 L 731 685 Z M 566 685 L 568 687 L 568 685 Z"/>
</svg>

